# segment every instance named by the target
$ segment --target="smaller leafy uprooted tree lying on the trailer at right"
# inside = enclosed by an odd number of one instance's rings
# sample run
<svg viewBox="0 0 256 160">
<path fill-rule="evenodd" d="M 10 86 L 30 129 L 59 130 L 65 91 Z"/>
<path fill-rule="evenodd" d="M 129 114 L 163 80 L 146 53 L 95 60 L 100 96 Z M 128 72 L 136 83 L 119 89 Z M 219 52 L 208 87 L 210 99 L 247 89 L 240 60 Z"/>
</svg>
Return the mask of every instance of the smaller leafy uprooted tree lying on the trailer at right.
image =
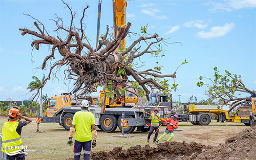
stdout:
<svg viewBox="0 0 256 160">
<path fill-rule="evenodd" d="M 199 81 L 197 85 L 199 87 L 206 85 L 205 94 L 209 96 L 209 100 L 218 100 L 218 104 L 221 106 L 229 105 L 228 112 L 237 107 L 241 102 L 250 103 L 251 97 L 256 96 L 255 90 L 248 89 L 241 80 L 241 76 L 231 74 L 225 70 L 224 75 L 220 75 L 218 68 L 214 68 L 214 79 L 200 77 L 199 79 L 208 79 L 210 84 L 204 84 Z"/>
</svg>

